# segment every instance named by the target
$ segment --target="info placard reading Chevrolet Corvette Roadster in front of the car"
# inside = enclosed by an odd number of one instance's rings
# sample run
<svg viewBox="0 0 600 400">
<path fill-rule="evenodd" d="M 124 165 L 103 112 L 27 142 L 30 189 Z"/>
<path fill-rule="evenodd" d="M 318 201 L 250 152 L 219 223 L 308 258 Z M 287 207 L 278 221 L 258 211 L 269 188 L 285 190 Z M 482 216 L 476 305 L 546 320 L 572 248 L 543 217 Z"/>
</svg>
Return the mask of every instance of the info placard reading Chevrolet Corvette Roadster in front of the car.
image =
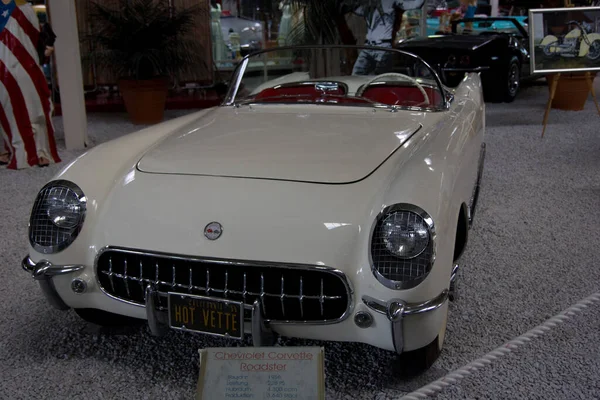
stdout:
<svg viewBox="0 0 600 400">
<path fill-rule="evenodd" d="M 322 347 L 200 349 L 196 400 L 325 398 Z"/>
</svg>

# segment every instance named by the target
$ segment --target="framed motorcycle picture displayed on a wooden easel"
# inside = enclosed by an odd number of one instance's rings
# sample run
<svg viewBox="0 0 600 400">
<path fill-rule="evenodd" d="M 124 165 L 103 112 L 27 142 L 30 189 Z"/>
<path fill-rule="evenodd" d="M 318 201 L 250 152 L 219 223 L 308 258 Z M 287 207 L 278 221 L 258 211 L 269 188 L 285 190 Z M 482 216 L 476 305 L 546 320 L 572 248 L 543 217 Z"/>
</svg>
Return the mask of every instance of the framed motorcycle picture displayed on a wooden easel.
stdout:
<svg viewBox="0 0 600 400">
<path fill-rule="evenodd" d="M 600 70 L 600 7 L 529 11 L 531 73 Z"/>
</svg>

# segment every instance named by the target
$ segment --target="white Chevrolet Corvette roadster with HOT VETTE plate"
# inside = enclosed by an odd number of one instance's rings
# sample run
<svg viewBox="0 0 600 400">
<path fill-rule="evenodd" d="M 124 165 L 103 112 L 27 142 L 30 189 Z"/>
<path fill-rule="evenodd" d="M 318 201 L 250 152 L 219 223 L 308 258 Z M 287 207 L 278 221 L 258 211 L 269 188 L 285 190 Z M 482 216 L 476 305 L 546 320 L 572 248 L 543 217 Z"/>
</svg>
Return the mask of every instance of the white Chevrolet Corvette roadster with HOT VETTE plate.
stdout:
<svg viewBox="0 0 600 400">
<path fill-rule="evenodd" d="M 248 56 L 223 105 L 99 145 L 45 185 L 23 268 L 97 324 L 362 342 L 428 368 L 484 111 L 478 74 L 445 87 L 398 50 Z"/>
</svg>

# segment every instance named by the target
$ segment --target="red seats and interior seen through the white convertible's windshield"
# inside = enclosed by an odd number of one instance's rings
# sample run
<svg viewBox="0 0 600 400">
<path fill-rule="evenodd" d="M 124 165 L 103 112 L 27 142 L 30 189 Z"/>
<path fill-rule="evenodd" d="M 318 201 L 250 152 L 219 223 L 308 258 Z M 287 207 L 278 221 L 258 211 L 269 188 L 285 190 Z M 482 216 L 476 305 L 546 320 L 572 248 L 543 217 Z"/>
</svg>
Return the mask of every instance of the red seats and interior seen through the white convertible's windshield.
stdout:
<svg viewBox="0 0 600 400">
<path fill-rule="evenodd" d="M 268 88 L 255 97 L 256 100 L 262 100 L 263 102 L 281 102 L 285 99 L 281 96 L 301 96 L 299 98 L 290 98 L 289 101 L 293 102 L 307 102 L 317 103 L 319 99 L 323 99 L 327 103 L 367 103 L 367 100 L 371 100 L 377 103 L 386 105 L 397 105 L 397 106 L 430 106 L 433 104 L 439 104 L 441 102 L 441 96 L 439 91 L 424 87 L 427 96 L 429 96 L 429 103 L 425 104 L 425 98 L 423 93 L 415 86 L 403 86 L 395 84 L 386 85 L 373 85 L 368 87 L 362 94 L 366 100 L 360 98 L 346 97 L 346 89 L 343 86 L 339 86 L 338 89 L 327 92 L 327 96 L 323 96 L 323 92 L 315 89 L 314 85 L 294 85 L 294 86 L 277 86 Z"/>
</svg>

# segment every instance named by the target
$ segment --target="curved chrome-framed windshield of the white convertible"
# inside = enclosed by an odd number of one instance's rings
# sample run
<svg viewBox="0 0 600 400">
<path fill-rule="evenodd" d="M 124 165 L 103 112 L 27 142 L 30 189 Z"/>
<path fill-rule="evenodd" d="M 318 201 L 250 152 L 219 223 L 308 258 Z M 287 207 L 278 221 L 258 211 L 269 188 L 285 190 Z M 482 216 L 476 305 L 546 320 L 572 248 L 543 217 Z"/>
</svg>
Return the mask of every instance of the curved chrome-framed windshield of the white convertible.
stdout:
<svg viewBox="0 0 600 400">
<path fill-rule="evenodd" d="M 360 46 L 275 48 L 246 57 L 226 104 L 444 106 L 437 74 L 417 56 Z"/>
</svg>

